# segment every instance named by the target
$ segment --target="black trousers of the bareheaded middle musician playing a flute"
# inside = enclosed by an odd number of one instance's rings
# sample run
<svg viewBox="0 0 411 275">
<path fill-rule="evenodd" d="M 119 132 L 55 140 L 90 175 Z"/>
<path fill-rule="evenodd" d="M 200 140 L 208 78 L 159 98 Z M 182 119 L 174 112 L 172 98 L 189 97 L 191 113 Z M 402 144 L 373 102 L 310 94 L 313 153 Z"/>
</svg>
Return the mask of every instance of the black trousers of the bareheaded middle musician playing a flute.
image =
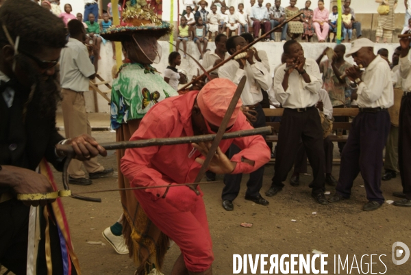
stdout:
<svg viewBox="0 0 411 275">
<path fill-rule="evenodd" d="M 277 155 L 275 158 L 273 183 L 271 186 L 284 187 L 297 155 L 298 144 L 302 140 L 312 167 L 314 180 L 310 184 L 312 193 L 325 191 L 323 128 L 319 111 L 313 106 L 306 112 L 284 109 L 279 126 Z"/>
</svg>

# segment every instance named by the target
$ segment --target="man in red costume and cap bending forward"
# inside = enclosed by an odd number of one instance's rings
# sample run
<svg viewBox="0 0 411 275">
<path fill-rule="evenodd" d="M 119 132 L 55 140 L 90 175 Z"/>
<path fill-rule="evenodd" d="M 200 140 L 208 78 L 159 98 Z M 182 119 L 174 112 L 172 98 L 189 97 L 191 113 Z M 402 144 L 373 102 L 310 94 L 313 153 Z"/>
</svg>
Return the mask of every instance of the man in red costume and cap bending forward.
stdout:
<svg viewBox="0 0 411 275">
<path fill-rule="evenodd" d="M 227 111 L 236 85 L 228 79 L 214 79 L 200 92 L 166 99 L 152 107 L 131 140 L 154 137 L 186 137 L 216 133 Z M 240 112 L 238 101 L 227 132 L 252 129 Z M 241 151 L 228 159 L 223 153 L 230 144 Z M 121 159 L 121 171 L 133 187 L 174 185 L 195 181 L 210 143 L 151 146 L 128 149 Z M 249 173 L 270 159 L 261 135 L 222 140 L 210 163 L 216 174 Z M 200 191 L 201 192 L 201 191 Z M 150 220 L 169 236 L 182 254 L 171 274 L 212 274 L 212 241 L 201 196 L 187 186 L 135 190 L 134 194 Z"/>
</svg>

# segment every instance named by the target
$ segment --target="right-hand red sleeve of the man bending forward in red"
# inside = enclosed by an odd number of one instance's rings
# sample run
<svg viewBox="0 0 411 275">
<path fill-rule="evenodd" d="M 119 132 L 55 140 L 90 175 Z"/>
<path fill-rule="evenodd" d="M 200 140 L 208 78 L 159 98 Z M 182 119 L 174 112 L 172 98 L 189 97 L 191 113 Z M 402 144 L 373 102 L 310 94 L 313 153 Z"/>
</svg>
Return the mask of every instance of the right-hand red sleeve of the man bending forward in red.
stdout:
<svg viewBox="0 0 411 275">
<path fill-rule="evenodd" d="M 237 121 L 240 123 L 242 130 L 253 129 L 253 127 L 247 122 L 245 115 L 240 113 Z M 233 140 L 233 143 L 241 149 L 240 153 L 234 155 L 231 161 L 237 163 L 236 168 L 232 174 L 248 174 L 256 171 L 265 163 L 270 161 L 271 153 L 270 148 L 267 146 L 264 137 L 261 135 L 251 135 L 249 137 L 238 137 Z M 242 159 L 249 159 L 254 161 L 254 166 L 249 163 L 245 163 Z"/>
</svg>

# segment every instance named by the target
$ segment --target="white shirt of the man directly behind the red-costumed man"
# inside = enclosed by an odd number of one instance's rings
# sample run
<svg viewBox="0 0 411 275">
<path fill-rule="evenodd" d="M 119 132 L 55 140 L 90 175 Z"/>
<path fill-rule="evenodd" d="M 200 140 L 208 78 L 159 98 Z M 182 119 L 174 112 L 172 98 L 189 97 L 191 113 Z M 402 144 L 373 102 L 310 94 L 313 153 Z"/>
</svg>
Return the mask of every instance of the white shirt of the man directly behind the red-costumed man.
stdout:
<svg viewBox="0 0 411 275">
<path fill-rule="evenodd" d="M 230 60 L 220 67 L 219 77 L 226 78 L 238 85 L 243 76 L 247 77 L 244 90 L 242 90 L 241 100 L 244 105 L 255 105 L 262 101 L 262 90 L 269 90 L 273 81 L 270 73 L 261 62 L 250 65 L 245 64 L 244 70 L 240 69 L 240 64 L 236 60 Z M 271 92 L 271 96 L 274 94 Z"/>
</svg>

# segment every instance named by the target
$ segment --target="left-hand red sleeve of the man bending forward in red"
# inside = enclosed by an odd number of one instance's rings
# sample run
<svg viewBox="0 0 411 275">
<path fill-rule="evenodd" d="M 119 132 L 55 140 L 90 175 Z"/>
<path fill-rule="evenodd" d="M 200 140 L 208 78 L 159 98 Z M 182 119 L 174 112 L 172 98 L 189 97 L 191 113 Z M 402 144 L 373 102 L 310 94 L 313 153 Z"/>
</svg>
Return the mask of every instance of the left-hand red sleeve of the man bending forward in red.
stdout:
<svg viewBox="0 0 411 275">
<path fill-rule="evenodd" d="M 167 105 L 155 105 L 141 120 L 138 130 L 130 140 L 148 140 L 150 138 L 169 137 L 177 117 L 169 114 Z M 150 168 L 150 159 L 158 153 L 160 146 L 130 148 L 125 150 L 121 159 L 121 172 L 127 177 L 133 187 L 148 187 L 169 185 L 158 170 Z M 172 156 L 164 156 L 172 157 Z M 169 178 L 168 178 L 169 179 Z M 166 191 L 165 187 L 146 189 L 146 192 L 160 197 Z"/>
</svg>

